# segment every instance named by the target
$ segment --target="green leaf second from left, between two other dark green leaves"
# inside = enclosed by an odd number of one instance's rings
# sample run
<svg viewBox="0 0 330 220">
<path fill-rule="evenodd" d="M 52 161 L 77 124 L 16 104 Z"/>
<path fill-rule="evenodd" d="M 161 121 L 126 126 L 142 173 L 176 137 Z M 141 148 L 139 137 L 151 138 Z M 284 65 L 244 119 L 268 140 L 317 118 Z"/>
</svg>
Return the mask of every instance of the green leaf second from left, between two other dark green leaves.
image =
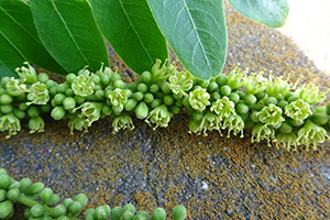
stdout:
<svg viewBox="0 0 330 220">
<path fill-rule="evenodd" d="M 38 36 L 69 73 L 109 66 L 107 47 L 87 0 L 31 0 Z"/>
</svg>

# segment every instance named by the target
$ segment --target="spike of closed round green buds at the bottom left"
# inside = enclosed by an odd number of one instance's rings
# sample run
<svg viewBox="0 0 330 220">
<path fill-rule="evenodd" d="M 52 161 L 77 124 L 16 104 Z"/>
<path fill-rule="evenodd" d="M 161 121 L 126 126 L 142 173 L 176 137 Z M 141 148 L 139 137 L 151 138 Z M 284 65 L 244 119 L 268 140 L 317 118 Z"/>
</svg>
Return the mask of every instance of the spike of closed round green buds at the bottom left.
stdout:
<svg viewBox="0 0 330 220">
<path fill-rule="evenodd" d="M 20 182 L 14 180 L 7 174 L 7 170 L 0 168 L 0 219 L 9 219 L 14 215 L 13 202 L 21 202 L 29 208 L 24 216 L 30 220 L 78 220 L 82 208 L 87 205 L 88 198 L 84 194 L 78 194 L 74 199 L 66 198 L 62 204 L 59 196 L 53 194 L 53 190 L 45 187 L 42 183 L 31 183 L 30 178 L 23 178 Z M 172 216 L 174 220 L 184 220 L 187 216 L 184 206 L 176 206 Z M 135 207 L 131 204 L 123 208 L 114 207 L 112 210 L 108 205 L 87 209 L 84 215 L 85 220 L 107 220 L 109 217 L 113 220 L 148 220 L 146 211 L 135 213 Z M 152 211 L 151 219 L 165 220 L 166 212 L 163 208 L 156 208 Z"/>
</svg>

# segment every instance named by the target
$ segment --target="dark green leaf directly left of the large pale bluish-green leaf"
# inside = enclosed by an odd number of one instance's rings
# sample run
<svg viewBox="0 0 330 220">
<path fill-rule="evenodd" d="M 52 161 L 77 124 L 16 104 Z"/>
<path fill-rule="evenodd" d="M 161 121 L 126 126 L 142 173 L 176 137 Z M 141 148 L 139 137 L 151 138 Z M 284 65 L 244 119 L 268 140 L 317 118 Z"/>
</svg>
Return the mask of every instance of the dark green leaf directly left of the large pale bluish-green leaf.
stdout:
<svg viewBox="0 0 330 220">
<path fill-rule="evenodd" d="M 138 74 L 168 57 L 166 40 L 146 0 L 89 0 L 97 24 L 123 62 Z"/>
</svg>

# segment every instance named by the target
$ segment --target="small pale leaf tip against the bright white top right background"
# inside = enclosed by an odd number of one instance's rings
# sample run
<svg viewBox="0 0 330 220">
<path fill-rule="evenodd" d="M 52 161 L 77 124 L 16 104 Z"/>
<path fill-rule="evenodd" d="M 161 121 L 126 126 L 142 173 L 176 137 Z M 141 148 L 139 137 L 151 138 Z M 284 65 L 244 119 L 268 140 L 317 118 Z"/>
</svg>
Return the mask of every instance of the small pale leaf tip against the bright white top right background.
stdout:
<svg viewBox="0 0 330 220">
<path fill-rule="evenodd" d="M 289 7 L 287 0 L 229 0 L 242 15 L 270 28 L 284 24 Z"/>
</svg>

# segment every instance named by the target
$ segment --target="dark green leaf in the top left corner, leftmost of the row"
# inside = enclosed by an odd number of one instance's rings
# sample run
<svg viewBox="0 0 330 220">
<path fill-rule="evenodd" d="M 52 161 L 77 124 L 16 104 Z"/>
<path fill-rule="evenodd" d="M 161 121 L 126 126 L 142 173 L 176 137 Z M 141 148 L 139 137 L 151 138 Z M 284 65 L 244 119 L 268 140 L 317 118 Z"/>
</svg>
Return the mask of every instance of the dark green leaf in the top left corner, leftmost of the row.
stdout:
<svg viewBox="0 0 330 220">
<path fill-rule="evenodd" d="M 58 74 L 65 73 L 41 43 L 29 4 L 21 0 L 1 0 L 0 21 L 0 77 L 16 77 L 15 67 L 25 61 Z"/>
</svg>

